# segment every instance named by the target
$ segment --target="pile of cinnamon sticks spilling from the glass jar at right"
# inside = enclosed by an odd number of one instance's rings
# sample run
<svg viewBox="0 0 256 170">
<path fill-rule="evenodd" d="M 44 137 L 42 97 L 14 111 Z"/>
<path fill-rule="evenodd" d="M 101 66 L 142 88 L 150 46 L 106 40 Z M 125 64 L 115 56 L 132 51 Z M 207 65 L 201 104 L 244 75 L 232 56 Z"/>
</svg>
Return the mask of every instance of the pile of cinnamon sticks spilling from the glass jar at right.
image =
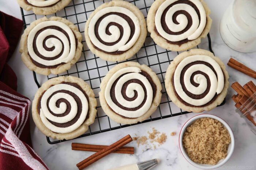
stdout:
<svg viewBox="0 0 256 170">
<path fill-rule="evenodd" d="M 253 106 L 255 106 L 255 99 L 252 101 L 248 100 L 255 92 L 256 92 L 256 86 L 252 81 L 249 81 L 244 86 L 241 86 L 238 82 L 234 82 L 231 87 L 238 93 L 236 95 L 232 96 L 233 101 L 236 103 L 235 107 L 238 108 L 243 114 L 245 114 L 246 118 L 248 118 L 255 126 L 256 123 L 253 120 L 253 117 L 249 114 L 249 110 L 244 109 L 243 104 L 246 105 L 246 103 L 251 103 Z M 256 108 L 252 108 L 251 110 L 254 111 Z"/>
</svg>

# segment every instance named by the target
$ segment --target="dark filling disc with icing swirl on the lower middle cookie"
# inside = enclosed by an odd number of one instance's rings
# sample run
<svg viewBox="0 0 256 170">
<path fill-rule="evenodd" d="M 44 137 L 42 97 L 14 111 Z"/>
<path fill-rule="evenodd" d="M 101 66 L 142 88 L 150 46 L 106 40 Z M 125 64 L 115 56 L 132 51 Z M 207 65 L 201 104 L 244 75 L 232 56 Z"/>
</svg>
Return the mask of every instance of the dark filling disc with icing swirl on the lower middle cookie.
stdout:
<svg viewBox="0 0 256 170">
<path fill-rule="evenodd" d="M 138 67 L 126 67 L 110 78 L 105 99 L 117 114 L 125 118 L 138 118 L 150 108 L 156 88 L 146 72 Z"/>
</svg>

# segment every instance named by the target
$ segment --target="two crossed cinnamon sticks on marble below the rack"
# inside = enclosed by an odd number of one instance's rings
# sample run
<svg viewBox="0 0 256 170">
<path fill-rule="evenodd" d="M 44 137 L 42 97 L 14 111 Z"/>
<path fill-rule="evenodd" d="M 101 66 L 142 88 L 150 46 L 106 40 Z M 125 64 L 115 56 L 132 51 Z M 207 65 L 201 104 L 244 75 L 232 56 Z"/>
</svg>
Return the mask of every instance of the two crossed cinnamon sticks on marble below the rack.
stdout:
<svg viewBox="0 0 256 170">
<path fill-rule="evenodd" d="M 92 163 L 98 161 L 99 159 L 105 157 L 110 153 L 122 153 L 122 154 L 134 154 L 134 147 L 124 147 L 128 143 L 132 142 L 130 135 L 125 136 L 119 141 L 113 143 L 112 145 L 89 145 L 82 143 L 72 143 L 72 150 L 82 150 L 82 151 L 94 151 L 97 152 L 90 157 L 84 159 L 83 161 L 76 164 L 79 170 L 86 168 Z"/>
</svg>

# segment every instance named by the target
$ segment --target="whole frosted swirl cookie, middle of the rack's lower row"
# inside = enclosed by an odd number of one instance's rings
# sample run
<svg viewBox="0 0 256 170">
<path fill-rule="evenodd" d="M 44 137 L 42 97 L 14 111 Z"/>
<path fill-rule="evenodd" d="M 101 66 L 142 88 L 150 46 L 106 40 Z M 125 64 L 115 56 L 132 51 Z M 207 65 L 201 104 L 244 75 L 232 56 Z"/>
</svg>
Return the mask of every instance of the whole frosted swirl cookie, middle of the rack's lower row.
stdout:
<svg viewBox="0 0 256 170">
<path fill-rule="evenodd" d="M 103 78 L 100 88 L 103 111 L 122 124 L 146 120 L 157 109 L 162 96 L 157 75 L 136 62 L 117 64 Z"/>
</svg>

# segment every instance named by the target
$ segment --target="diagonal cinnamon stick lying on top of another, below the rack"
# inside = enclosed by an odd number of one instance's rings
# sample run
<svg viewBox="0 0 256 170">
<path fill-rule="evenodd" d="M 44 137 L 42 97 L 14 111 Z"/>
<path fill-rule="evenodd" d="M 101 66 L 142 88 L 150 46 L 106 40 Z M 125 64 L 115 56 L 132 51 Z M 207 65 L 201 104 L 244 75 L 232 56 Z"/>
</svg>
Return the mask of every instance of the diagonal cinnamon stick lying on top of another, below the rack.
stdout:
<svg viewBox="0 0 256 170">
<path fill-rule="evenodd" d="M 131 136 L 127 135 L 124 138 L 120 139 L 119 141 L 113 143 L 112 145 L 107 146 L 105 149 L 102 149 L 101 151 L 98 151 L 97 153 L 79 162 L 78 164 L 76 164 L 76 166 L 79 168 L 79 170 L 84 169 L 87 166 L 91 165 L 92 163 L 112 153 L 113 151 L 120 149 L 121 147 L 123 147 L 127 143 L 130 143 L 131 141 L 132 141 Z"/>
</svg>

